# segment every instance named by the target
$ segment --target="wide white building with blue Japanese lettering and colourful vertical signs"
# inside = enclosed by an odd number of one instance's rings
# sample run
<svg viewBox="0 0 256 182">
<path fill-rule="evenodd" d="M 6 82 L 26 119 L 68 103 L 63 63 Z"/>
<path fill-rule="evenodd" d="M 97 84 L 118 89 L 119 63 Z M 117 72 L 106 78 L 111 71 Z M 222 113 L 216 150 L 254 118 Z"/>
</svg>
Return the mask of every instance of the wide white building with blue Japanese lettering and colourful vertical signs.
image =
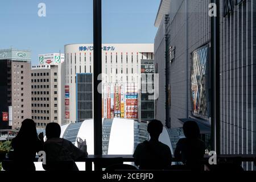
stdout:
<svg viewBox="0 0 256 182">
<path fill-rule="evenodd" d="M 154 44 L 102 44 L 103 108 L 98 110 L 102 110 L 102 117 L 139 119 L 141 60 L 147 59 L 154 60 Z M 82 117 L 90 119 L 90 115 L 93 115 L 93 110 L 89 109 L 91 105 L 80 106 L 90 101 L 91 97 L 89 100 L 85 97 L 77 100 L 77 75 L 81 77 L 80 73 L 93 73 L 93 66 L 97 66 L 93 65 L 93 44 L 66 45 L 64 64 L 65 121 L 78 121 L 80 117 L 77 113 L 81 110 L 86 113 L 90 110 L 92 114 L 86 114 L 89 118 Z M 92 92 L 92 89 L 87 91 Z"/>
</svg>

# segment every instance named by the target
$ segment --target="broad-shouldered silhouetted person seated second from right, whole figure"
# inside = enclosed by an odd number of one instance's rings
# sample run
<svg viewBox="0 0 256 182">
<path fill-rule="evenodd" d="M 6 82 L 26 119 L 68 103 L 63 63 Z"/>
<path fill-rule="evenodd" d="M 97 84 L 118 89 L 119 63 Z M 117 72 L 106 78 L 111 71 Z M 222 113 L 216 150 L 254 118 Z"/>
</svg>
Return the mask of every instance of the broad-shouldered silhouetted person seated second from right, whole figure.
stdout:
<svg viewBox="0 0 256 182">
<path fill-rule="evenodd" d="M 163 124 L 158 120 L 148 123 L 147 131 L 150 140 L 138 144 L 135 152 L 135 165 L 142 170 L 162 170 L 171 166 L 172 154 L 170 147 L 159 142 L 159 136 L 163 131 Z"/>
</svg>

